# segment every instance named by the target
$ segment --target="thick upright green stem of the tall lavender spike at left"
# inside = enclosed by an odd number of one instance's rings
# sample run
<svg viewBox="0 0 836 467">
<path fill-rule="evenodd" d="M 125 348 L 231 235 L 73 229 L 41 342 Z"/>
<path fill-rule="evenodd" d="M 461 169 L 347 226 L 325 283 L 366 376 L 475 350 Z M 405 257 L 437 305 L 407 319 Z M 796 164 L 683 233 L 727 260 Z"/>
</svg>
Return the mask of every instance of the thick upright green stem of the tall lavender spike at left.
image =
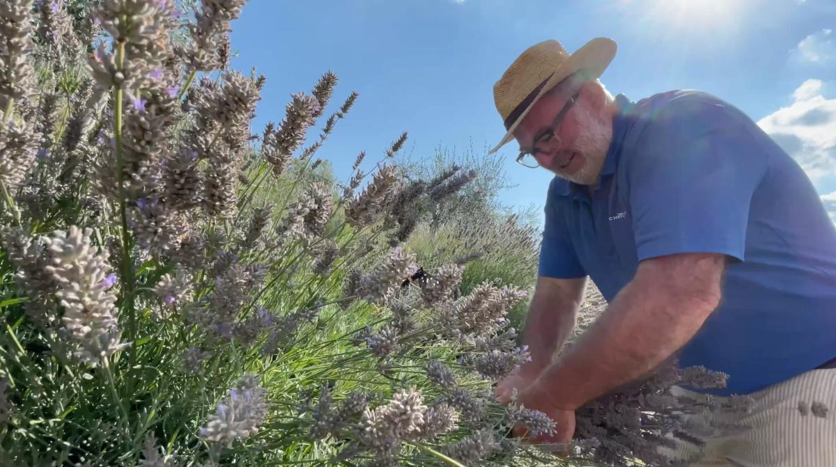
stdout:
<svg viewBox="0 0 836 467">
<path fill-rule="evenodd" d="M 116 67 L 120 71 L 125 69 L 125 41 L 119 41 L 116 45 Z M 123 301 L 128 311 L 130 329 L 128 339 L 133 341 L 136 336 L 136 312 L 134 309 L 134 272 L 130 264 L 130 231 L 128 231 L 127 194 L 125 193 L 125 160 L 122 157 L 122 102 L 124 100 L 122 84 L 115 89 L 115 120 L 114 137 L 116 142 L 116 170 L 119 180 L 119 211 L 122 221 L 122 277 L 125 281 L 123 289 Z"/>
</svg>

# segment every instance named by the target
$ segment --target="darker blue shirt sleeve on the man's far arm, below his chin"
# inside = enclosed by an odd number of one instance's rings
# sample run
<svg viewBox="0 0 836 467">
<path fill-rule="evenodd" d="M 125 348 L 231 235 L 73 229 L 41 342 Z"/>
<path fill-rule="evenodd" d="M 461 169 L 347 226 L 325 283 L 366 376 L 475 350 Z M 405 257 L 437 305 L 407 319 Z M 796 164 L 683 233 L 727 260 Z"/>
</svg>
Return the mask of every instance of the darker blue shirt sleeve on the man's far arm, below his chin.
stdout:
<svg viewBox="0 0 836 467">
<path fill-rule="evenodd" d="M 543 228 L 543 242 L 540 244 L 540 265 L 538 275 L 558 279 L 586 277 L 578 255 L 575 254 L 563 213 L 558 215 L 559 202 L 554 200 L 552 183 L 546 198 L 546 223 Z"/>
</svg>

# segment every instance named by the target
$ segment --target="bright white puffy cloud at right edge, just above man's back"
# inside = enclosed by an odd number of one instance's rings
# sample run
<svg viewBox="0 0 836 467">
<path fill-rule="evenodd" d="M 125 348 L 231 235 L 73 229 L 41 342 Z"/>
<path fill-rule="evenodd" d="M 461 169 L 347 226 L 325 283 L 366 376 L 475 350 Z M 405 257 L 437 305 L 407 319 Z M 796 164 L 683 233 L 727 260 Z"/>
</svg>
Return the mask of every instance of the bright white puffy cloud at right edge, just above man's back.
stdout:
<svg viewBox="0 0 836 467">
<path fill-rule="evenodd" d="M 808 79 L 793 93 L 793 104 L 757 122 L 811 179 L 836 174 L 836 99 L 823 96 L 827 87 Z"/>
</svg>

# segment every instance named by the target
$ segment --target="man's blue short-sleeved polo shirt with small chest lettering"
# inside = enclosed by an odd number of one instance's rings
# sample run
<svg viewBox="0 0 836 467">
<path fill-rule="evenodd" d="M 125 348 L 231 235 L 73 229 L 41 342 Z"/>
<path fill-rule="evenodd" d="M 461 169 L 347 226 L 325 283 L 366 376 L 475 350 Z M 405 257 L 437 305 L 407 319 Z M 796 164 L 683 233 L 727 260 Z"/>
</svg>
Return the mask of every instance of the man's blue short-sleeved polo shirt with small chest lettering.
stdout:
<svg viewBox="0 0 836 467">
<path fill-rule="evenodd" d="M 720 305 L 679 353 L 729 375 L 706 392 L 751 393 L 836 357 L 836 228 L 795 160 L 710 94 L 616 102 L 594 194 L 549 185 L 539 274 L 589 276 L 609 302 L 642 260 L 721 253 Z"/>
</svg>

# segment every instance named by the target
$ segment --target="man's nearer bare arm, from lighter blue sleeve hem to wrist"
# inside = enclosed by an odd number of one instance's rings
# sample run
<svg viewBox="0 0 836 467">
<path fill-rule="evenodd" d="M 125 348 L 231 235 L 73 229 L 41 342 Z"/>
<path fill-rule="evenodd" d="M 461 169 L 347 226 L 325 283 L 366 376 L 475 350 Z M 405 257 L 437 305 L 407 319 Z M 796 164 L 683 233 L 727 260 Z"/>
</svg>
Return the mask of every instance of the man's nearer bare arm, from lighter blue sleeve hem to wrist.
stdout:
<svg viewBox="0 0 836 467">
<path fill-rule="evenodd" d="M 573 410 L 649 373 L 684 346 L 720 302 L 725 256 L 686 253 L 642 261 L 633 281 L 525 399 Z"/>
</svg>

